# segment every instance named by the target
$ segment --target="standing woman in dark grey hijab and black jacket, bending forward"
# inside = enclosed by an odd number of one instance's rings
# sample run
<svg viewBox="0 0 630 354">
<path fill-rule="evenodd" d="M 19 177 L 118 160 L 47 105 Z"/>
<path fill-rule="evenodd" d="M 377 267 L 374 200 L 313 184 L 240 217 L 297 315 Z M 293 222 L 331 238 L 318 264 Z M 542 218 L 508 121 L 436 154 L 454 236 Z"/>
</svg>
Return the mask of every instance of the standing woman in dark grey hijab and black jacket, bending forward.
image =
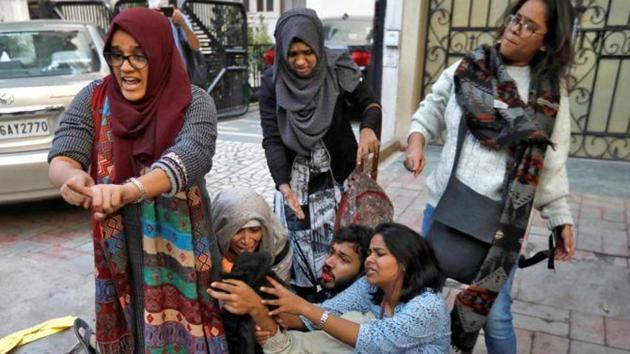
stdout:
<svg viewBox="0 0 630 354">
<path fill-rule="evenodd" d="M 344 181 L 378 150 L 381 108 L 347 53 L 324 47 L 315 11 L 294 9 L 276 24 L 272 68 L 258 92 L 263 147 L 278 189 L 274 209 L 289 230 L 291 283 L 316 292 Z M 361 113 L 357 144 L 350 107 Z"/>
</svg>

